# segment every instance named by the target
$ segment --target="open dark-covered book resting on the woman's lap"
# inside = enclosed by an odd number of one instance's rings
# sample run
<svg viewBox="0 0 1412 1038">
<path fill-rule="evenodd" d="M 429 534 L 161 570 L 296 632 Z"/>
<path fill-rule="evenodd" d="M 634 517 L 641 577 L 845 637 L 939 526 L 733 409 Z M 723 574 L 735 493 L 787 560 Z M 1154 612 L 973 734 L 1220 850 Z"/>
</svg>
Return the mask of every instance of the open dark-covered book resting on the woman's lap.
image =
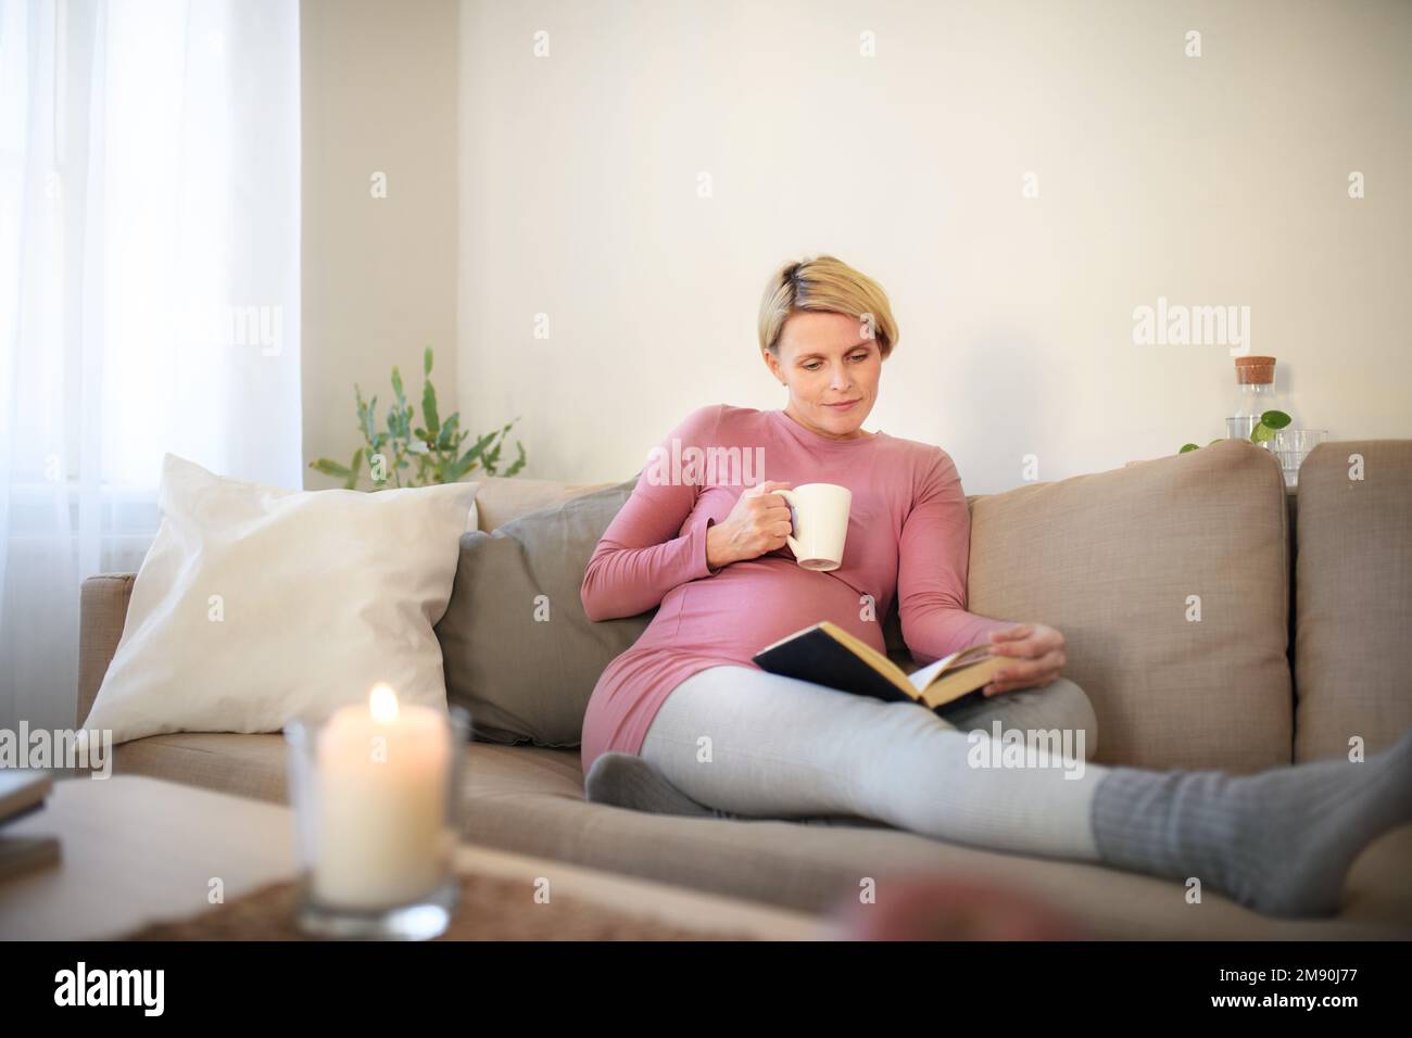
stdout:
<svg viewBox="0 0 1412 1038">
<path fill-rule="evenodd" d="M 888 702 L 911 699 L 935 710 L 964 695 L 980 695 L 1014 657 L 995 655 L 990 644 L 977 643 L 908 674 L 868 643 L 820 620 L 765 645 L 751 660 L 771 674 Z"/>
</svg>

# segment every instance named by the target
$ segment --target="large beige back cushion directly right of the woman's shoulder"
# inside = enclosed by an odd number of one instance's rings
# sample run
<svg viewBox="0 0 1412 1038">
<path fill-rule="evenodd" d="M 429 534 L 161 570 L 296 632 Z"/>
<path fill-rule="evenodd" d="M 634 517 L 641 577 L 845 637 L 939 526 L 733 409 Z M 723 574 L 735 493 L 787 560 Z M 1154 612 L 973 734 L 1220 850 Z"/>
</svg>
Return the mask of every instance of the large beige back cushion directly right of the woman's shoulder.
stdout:
<svg viewBox="0 0 1412 1038">
<path fill-rule="evenodd" d="M 1100 764 L 1291 763 L 1288 511 L 1268 451 L 1220 441 L 987 494 L 967 593 L 974 613 L 1063 633 Z"/>
</svg>

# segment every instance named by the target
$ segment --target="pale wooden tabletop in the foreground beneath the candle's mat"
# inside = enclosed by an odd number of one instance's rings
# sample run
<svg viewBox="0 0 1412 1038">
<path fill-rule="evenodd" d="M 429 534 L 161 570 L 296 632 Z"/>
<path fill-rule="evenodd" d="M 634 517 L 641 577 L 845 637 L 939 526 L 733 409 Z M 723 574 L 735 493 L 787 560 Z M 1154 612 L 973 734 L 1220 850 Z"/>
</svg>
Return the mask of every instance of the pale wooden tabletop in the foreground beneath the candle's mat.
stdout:
<svg viewBox="0 0 1412 1038">
<path fill-rule="evenodd" d="M 56 780 L 44 809 L 3 836 L 59 837 L 61 861 L 0 878 L 0 941 L 89 941 L 209 908 L 212 880 L 226 901 L 297 874 L 294 815 L 247 799 L 141 775 Z M 551 859 L 463 843 L 460 870 L 552 877 L 555 894 L 650 914 L 700 931 L 770 941 L 833 936 L 815 917 Z"/>
</svg>

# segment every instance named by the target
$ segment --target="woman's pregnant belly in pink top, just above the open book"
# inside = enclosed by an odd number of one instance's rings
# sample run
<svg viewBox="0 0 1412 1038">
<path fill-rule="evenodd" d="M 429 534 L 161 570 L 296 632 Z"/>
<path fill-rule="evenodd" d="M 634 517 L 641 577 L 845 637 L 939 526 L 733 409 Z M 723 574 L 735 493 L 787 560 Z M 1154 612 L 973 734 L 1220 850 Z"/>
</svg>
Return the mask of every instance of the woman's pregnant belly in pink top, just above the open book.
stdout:
<svg viewBox="0 0 1412 1038">
<path fill-rule="evenodd" d="M 832 620 L 884 651 L 880 603 L 833 573 L 801 569 L 792 559 L 767 555 L 734 562 L 671 595 L 681 596 L 681 623 L 666 624 L 655 645 L 748 661 L 802 627 Z"/>
</svg>

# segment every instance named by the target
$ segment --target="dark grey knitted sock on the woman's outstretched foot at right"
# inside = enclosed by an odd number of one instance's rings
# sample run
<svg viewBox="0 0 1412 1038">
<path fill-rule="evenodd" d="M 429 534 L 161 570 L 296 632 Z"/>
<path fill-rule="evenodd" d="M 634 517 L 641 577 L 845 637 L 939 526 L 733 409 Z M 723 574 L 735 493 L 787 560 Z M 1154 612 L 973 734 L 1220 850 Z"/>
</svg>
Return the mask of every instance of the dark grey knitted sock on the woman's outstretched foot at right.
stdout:
<svg viewBox="0 0 1412 1038">
<path fill-rule="evenodd" d="M 1361 763 L 1257 775 L 1115 767 L 1094 789 L 1091 819 L 1108 864 L 1195 876 L 1267 915 L 1332 915 L 1358 853 L 1412 822 L 1412 727 Z"/>
</svg>

